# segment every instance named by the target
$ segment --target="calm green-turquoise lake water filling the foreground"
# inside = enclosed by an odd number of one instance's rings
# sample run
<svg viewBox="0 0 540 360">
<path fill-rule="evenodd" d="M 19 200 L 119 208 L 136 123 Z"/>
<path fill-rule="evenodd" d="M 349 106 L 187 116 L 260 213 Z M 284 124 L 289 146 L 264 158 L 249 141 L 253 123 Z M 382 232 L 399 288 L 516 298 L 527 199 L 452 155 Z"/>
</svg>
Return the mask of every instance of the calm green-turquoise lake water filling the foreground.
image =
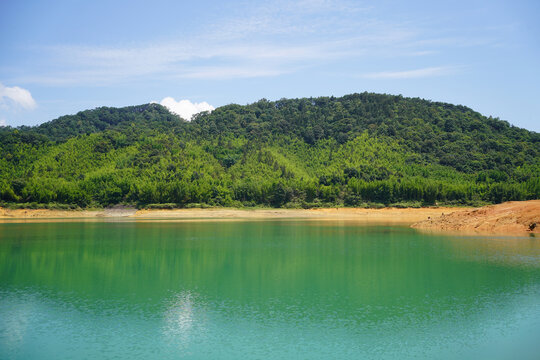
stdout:
<svg viewBox="0 0 540 360">
<path fill-rule="evenodd" d="M 0 224 L 1 359 L 539 359 L 540 239 Z"/>
</svg>

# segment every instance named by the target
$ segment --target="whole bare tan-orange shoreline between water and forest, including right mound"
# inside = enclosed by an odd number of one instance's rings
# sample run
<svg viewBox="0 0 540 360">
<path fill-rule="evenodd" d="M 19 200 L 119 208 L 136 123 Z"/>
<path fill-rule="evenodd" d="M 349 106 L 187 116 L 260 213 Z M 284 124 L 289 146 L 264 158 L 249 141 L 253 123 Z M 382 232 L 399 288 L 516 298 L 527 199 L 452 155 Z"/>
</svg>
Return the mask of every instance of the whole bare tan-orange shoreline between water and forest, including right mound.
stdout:
<svg viewBox="0 0 540 360">
<path fill-rule="evenodd" d="M 347 220 L 411 225 L 417 229 L 475 233 L 539 233 L 540 200 L 513 201 L 482 208 L 326 208 L 326 209 L 173 209 L 46 210 L 0 208 L 0 222 L 79 221 L 234 221 L 264 219 Z"/>
</svg>

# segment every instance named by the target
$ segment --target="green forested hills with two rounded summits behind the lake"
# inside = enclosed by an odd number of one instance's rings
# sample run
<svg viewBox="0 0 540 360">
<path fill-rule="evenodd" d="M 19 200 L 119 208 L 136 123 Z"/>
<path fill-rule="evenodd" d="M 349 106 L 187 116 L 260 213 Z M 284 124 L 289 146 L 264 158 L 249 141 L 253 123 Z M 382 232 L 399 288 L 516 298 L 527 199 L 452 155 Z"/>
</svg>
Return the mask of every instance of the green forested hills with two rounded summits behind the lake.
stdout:
<svg viewBox="0 0 540 360">
<path fill-rule="evenodd" d="M 158 104 L 97 108 L 0 128 L 0 155 L 10 206 L 540 198 L 540 134 L 464 106 L 371 93 L 227 105 L 191 122 Z"/>
</svg>

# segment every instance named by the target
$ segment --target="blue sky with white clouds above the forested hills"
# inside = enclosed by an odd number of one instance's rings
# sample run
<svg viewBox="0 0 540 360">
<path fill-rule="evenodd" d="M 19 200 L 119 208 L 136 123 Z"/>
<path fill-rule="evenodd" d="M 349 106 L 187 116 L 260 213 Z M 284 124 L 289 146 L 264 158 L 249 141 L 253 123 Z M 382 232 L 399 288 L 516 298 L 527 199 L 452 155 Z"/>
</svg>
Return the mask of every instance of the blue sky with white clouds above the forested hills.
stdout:
<svg viewBox="0 0 540 360">
<path fill-rule="evenodd" d="M 0 0 L 0 125 L 364 91 L 540 132 L 540 1 Z"/>
</svg>

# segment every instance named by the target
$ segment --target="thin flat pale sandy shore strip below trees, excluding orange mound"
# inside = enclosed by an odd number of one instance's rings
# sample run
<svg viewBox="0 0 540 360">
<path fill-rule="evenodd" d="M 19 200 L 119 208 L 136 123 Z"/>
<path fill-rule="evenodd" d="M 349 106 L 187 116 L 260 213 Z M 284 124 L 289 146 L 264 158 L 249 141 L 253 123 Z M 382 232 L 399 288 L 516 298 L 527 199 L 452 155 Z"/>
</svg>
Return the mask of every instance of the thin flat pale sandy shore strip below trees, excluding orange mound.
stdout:
<svg viewBox="0 0 540 360">
<path fill-rule="evenodd" d="M 263 219 L 313 219 L 313 220 L 355 220 L 362 222 L 384 222 L 392 224 L 412 223 L 450 214 L 463 208 L 420 208 L 420 209 L 363 209 L 363 208 L 327 208 L 327 209 L 175 209 L 175 210 L 10 210 L 0 208 L 0 221 L 44 221 L 44 220 L 263 220 Z"/>
</svg>

